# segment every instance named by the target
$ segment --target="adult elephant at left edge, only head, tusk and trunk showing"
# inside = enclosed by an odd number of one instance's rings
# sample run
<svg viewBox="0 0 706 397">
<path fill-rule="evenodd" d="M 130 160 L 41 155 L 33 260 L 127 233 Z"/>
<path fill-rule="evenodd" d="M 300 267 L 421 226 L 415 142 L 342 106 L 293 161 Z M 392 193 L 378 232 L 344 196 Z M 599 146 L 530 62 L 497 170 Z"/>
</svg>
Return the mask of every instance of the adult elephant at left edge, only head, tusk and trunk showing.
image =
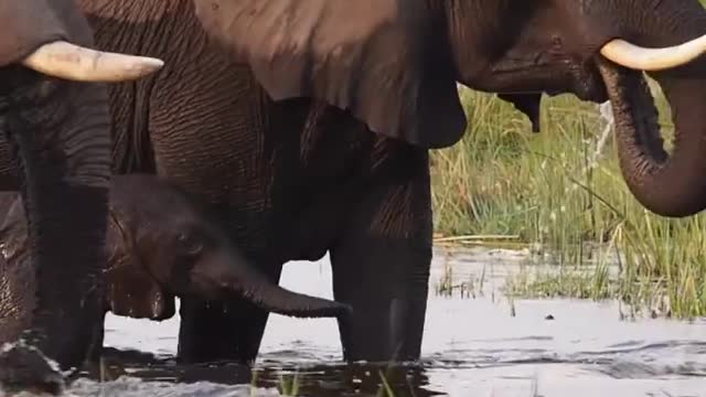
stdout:
<svg viewBox="0 0 706 397">
<path fill-rule="evenodd" d="M 68 368 L 85 357 L 100 315 L 85 304 L 104 264 L 110 175 L 107 92 L 96 83 L 138 78 L 162 62 L 90 50 L 72 0 L 0 0 L 0 125 L 18 154 L 39 282 L 23 341 Z M 0 350 L 0 384 L 9 353 Z"/>
</svg>

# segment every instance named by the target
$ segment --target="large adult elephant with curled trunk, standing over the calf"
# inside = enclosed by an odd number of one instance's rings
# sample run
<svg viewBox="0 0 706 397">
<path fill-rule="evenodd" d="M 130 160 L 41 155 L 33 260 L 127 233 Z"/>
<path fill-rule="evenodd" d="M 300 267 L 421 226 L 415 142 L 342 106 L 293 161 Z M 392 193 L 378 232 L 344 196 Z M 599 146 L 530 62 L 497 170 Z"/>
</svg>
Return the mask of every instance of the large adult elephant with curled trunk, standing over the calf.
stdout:
<svg viewBox="0 0 706 397">
<path fill-rule="evenodd" d="M 164 58 L 113 86 L 117 172 L 200 194 L 277 281 L 327 250 L 346 360 L 419 356 L 431 207 L 428 149 L 467 122 L 456 82 L 502 94 L 537 126 L 542 93 L 612 99 L 623 172 L 650 210 L 706 204 L 697 0 L 81 0 L 107 51 Z M 686 52 L 683 52 L 686 50 Z M 691 63 L 688 63 L 692 61 Z M 639 69 L 678 131 L 670 158 Z M 693 106 L 688 108 L 687 106 Z M 678 178 L 677 178 L 678 176 Z M 267 313 L 182 301 L 179 354 L 253 360 Z"/>
</svg>

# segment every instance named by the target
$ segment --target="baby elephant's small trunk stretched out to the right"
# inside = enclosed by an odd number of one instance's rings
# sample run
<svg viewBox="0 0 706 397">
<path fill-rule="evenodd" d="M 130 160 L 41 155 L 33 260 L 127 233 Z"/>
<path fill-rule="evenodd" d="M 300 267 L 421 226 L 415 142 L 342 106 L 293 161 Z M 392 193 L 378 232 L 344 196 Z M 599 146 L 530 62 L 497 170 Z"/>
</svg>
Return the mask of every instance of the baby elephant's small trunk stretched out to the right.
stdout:
<svg viewBox="0 0 706 397">
<path fill-rule="evenodd" d="M 239 255 L 236 260 L 231 258 L 199 264 L 191 275 L 196 286 L 194 292 L 200 296 L 223 299 L 235 294 L 277 314 L 341 318 L 352 311 L 347 304 L 293 292 L 272 283 Z"/>
</svg>

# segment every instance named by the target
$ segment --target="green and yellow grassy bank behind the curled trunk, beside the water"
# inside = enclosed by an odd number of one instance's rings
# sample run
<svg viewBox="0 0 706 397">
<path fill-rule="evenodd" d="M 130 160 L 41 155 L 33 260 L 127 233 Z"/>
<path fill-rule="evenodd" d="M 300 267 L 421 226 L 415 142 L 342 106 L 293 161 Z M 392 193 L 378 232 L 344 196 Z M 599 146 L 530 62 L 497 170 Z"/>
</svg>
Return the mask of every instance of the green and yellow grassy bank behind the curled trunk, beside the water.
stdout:
<svg viewBox="0 0 706 397">
<path fill-rule="evenodd" d="M 432 154 L 436 230 L 533 243 L 567 270 L 599 266 L 579 279 L 526 278 L 525 294 L 618 297 L 650 303 L 665 296 L 673 315 L 706 315 L 706 215 L 668 219 L 646 212 L 620 174 L 609 118 L 571 96 L 545 98 L 542 132 L 496 97 L 463 89 L 469 130 Z M 661 121 L 673 132 L 660 100 Z M 667 139 L 668 141 L 668 139 Z M 621 277 L 606 265 L 619 254 Z M 612 257 L 612 259 L 609 259 Z M 560 272 L 563 275 L 564 272 Z M 553 288 L 546 288 L 553 286 Z M 571 291 L 580 291 L 575 293 Z"/>
</svg>

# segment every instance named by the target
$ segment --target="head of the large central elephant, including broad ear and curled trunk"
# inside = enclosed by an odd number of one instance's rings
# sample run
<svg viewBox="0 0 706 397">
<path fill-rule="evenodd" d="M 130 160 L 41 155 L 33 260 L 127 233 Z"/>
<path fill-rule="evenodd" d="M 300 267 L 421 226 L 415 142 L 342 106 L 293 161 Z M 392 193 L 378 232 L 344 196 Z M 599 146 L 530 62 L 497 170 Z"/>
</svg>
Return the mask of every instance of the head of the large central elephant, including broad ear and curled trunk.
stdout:
<svg viewBox="0 0 706 397">
<path fill-rule="evenodd" d="M 706 207 L 706 11 L 698 0 L 194 2 L 204 29 L 274 99 L 318 98 L 424 148 L 463 135 L 456 82 L 500 94 L 535 130 L 543 93 L 610 98 L 635 197 L 666 216 Z M 642 72 L 671 101 L 671 157 Z"/>
</svg>

